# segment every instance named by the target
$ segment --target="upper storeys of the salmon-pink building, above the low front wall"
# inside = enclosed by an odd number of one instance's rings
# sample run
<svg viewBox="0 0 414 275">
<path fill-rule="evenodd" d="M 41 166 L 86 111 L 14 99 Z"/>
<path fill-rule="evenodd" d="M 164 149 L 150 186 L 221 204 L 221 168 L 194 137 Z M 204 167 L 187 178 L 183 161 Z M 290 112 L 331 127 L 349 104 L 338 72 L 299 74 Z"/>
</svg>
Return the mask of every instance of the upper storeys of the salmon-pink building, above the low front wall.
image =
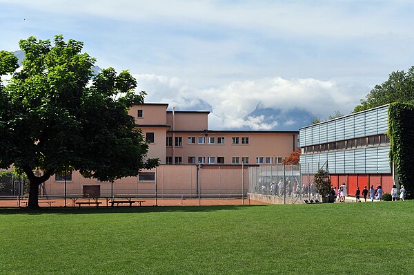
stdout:
<svg viewBox="0 0 414 275">
<path fill-rule="evenodd" d="M 133 106 L 129 114 L 161 164 L 282 164 L 297 149 L 298 131 L 214 131 L 208 111 L 167 111 L 168 104 Z"/>
</svg>

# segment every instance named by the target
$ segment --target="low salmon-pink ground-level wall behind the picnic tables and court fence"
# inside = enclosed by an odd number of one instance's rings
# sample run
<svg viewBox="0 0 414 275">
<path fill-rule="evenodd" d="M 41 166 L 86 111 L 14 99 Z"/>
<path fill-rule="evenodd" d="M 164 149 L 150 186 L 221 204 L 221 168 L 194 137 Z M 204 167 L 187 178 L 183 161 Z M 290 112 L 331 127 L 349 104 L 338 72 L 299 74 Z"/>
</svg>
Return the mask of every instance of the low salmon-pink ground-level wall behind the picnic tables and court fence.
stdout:
<svg viewBox="0 0 414 275">
<path fill-rule="evenodd" d="M 245 166 L 244 189 L 248 188 L 248 167 Z M 160 165 L 155 172 L 157 196 L 197 196 L 196 165 Z M 201 168 L 201 196 L 231 196 L 242 193 L 242 166 L 204 166 Z M 67 196 L 81 196 L 83 185 L 99 185 L 102 197 L 112 196 L 110 182 L 83 178 L 78 171 L 72 173 L 72 181 L 66 183 Z M 46 195 L 63 196 L 64 182 L 55 182 L 52 176 L 45 182 Z M 155 196 L 155 181 L 140 182 L 137 177 L 121 178 L 113 183 L 115 196 Z M 43 194 L 42 194 L 43 195 Z"/>
</svg>

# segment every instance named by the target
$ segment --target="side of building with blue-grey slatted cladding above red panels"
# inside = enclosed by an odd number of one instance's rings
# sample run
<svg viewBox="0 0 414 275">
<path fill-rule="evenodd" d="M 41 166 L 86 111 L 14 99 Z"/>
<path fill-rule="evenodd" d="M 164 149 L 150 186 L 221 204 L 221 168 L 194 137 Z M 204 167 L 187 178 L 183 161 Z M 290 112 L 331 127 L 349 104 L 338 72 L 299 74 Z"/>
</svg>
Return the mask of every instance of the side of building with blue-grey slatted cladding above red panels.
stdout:
<svg viewBox="0 0 414 275">
<path fill-rule="evenodd" d="M 389 193 L 393 171 L 387 132 L 388 105 L 299 129 L 302 182 L 327 164 L 333 185 L 345 182 L 350 195 L 371 185 Z"/>
</svg>

